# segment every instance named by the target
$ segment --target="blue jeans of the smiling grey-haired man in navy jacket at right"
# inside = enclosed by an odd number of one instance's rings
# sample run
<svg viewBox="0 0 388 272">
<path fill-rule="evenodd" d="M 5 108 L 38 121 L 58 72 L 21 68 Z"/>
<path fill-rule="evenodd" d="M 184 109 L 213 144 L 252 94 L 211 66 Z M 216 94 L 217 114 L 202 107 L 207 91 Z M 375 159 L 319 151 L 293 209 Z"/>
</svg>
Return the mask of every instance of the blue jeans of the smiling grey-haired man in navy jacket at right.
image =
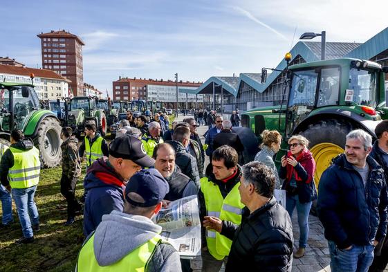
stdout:
<svg viewBox="0 0 388 272">
<path fill-rule="evenodd" d="M 328 241 L 331 272 L 367 272 L 373 261 L 374 246 L 355 246 L 340 249 L 335 242 Z"/>
</svg>

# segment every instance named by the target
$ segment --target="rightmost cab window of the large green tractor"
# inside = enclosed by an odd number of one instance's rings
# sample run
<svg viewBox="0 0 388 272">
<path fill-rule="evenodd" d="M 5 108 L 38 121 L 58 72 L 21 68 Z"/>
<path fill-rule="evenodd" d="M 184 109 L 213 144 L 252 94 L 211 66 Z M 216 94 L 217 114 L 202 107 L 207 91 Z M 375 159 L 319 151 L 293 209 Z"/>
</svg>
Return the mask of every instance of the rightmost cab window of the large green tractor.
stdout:
<svg viewBox="0 0 388 272">
<path fill-rule="evenodd" d="M 349 73 L 349 89 L 353 90 L 353 102 L 362 106 L 376 107 L 378 89 L 377 73 L 371 70 L 352 68 Z"/>
</svg>

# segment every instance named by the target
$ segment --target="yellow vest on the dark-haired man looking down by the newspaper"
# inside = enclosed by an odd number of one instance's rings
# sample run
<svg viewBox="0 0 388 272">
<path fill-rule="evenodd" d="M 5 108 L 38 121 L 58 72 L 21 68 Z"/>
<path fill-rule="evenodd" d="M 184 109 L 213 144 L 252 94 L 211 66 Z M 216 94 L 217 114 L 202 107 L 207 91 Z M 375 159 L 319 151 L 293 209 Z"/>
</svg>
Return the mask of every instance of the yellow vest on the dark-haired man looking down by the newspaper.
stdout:
<svg viewBox="0 0 388 272">
<path fill-rule="evenodd" d="M 201 191 L 205 197 L 206 214 L 218 217 L 221 220 L 231 221 L 234 224 L 241 224 L 241 203 L 238 182 L 223 199 L 219 186 L 209 181 L 207 177 L 200 179 Z M 217 233 L 215 230 L 206 230 L 207 248 L 216 260 L 223 260 L 229 255 L 232 240 Z"/>
</svg>

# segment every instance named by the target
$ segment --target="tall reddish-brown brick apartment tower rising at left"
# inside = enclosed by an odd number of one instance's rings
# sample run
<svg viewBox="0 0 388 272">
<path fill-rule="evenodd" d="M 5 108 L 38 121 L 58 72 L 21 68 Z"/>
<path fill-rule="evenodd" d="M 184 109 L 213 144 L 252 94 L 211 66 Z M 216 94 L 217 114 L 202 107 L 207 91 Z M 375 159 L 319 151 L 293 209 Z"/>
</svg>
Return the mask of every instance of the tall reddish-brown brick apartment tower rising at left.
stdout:
<svg viewBox="0 0 388 272">
<path fill-rule="evenodd" d="M 41 33 L 41 63 L 43 69 L 55 71 L 71 80 L 69 94 L 82 96 L 84 93 L 84 71 L 82 46 L 84 42 L 77 35 L 65 30 Z"/>
</svg>

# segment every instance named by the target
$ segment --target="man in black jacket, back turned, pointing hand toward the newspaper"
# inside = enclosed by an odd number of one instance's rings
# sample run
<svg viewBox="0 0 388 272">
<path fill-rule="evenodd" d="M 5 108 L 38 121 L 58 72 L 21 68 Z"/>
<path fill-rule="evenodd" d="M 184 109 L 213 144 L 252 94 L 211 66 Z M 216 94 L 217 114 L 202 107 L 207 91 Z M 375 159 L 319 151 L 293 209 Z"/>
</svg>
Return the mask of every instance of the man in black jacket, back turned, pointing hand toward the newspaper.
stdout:
<svg viewBox="0 0 388 272">
<path fill-rule="evenodd" d="M 291 271 L 293 225 L 273 192 L 275 176 L 257 161 L 243 165 L 241 225 L 207 216 L 203 226 L 232 239 L 225 271 Z"/>
</svg>

